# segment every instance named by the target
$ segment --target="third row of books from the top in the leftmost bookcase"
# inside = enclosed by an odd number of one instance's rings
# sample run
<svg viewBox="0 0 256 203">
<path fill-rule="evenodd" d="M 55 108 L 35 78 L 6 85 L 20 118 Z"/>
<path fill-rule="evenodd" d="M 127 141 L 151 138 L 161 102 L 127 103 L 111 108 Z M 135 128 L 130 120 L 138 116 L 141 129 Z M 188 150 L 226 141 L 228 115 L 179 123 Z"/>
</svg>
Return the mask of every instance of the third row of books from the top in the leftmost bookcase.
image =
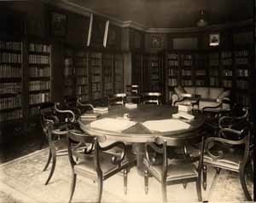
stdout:
<svg viewBox="0 0 256 203">
<path fill-rule="evenodd" d="M 0 78 L 20 78 L 21 73 L 21 67 L 0 64 Z"/>
</svg>

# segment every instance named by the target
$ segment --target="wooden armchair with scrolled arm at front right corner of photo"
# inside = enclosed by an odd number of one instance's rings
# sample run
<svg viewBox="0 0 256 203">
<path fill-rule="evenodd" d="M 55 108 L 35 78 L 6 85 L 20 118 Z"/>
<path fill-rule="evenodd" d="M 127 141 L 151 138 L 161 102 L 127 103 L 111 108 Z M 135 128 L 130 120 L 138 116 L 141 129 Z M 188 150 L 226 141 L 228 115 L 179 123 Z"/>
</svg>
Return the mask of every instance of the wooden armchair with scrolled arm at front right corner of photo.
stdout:
<svg viewBox="0 0 256 203">
<path fill-rule="evenodd" d="M 245 171 L 253 151 L 252 140 L 250 124 L 241 130 L 221 128 L 218 137 L 207 138 L 203 159 L 203 188 L 207 188 L 207 165 L 211 165 L 218 172 L 220 169 L 238 172 L 241 188 L 247 200 L 252 200 L 245 180 Z"/>
</svg>

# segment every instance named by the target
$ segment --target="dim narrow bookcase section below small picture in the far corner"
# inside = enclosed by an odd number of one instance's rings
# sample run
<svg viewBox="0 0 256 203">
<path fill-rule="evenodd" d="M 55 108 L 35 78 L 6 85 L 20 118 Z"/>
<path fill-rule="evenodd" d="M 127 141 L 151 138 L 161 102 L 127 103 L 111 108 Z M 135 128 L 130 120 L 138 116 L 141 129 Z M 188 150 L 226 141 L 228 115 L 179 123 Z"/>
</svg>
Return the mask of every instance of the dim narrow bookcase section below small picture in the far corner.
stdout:
<svg viewBox="0 0 256 203">
<path fill-rule="evenodd" d="M 161 80 L 161 70 L 160 70 L 160 57 L 159 55 L 149 55 L 149 81 L 150 81 L 150 91 L 160 91 L 160 80 Z"/>
</svg>

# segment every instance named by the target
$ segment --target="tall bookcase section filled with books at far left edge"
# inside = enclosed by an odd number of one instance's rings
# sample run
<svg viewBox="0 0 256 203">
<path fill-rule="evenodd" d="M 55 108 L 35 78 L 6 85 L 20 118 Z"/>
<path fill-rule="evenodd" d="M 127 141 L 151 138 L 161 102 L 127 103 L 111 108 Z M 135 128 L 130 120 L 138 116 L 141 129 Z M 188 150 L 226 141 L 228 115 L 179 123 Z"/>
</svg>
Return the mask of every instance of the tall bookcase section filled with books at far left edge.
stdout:
<svg viewBox="0 0 256 203">
<path fill-rule="evenodd" d="M 0 124 L 23 118 L 22 42 L 0 41 Z"/>
</svg>

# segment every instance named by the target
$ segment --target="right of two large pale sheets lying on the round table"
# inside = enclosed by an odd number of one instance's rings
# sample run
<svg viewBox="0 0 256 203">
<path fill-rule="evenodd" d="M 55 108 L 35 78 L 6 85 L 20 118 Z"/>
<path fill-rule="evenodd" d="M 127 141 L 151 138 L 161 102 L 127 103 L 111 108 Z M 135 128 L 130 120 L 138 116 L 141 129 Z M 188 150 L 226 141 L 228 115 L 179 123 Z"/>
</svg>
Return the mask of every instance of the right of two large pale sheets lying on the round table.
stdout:
<svg viewBox="0 0 256 203">
<path fill-rule="evenodd" d="M 143 125 L 150 131 L 160 132 L 185 130 L 190 127 L 189 124 L 178 119 L 148 120 Z"/>
</svg>

